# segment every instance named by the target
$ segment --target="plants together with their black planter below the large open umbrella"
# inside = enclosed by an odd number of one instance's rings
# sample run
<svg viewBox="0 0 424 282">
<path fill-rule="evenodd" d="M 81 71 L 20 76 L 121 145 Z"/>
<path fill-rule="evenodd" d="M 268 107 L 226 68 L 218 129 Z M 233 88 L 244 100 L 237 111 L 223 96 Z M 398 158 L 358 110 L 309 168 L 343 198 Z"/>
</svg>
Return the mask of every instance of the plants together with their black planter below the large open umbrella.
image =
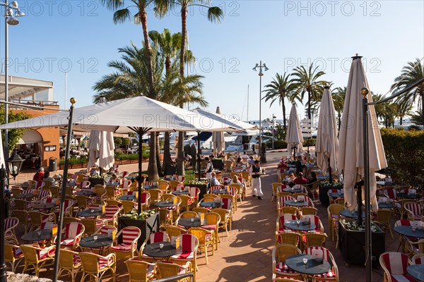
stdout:
<svg viewBox="0 0 424 282">
<path fill-rule="evenodd" d="M 155 210 L 141 211 L 131 210 L 128 214 L 122 214 L 118 219 L 118 231 L 127 226 L 136 226 L 141 230 L 141 236 L 137 242 L 138 247 L 143 245 L 144 240 L 159 229 L 159 213 Z"/>
</svg>

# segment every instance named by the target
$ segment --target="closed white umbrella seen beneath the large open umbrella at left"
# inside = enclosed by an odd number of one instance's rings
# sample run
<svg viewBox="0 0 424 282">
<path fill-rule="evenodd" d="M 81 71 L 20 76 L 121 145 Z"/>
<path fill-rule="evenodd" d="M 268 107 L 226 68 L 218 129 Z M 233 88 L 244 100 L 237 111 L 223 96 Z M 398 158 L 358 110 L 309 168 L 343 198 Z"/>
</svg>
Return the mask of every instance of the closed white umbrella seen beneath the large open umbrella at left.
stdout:
<svg viewBox="0 0 424 282">
<path fill-rule="evenodd" d="M 100 103 L 104 102 L 106 102 L 104 98 L 100 99 Z M 90 140 L 88 140 L 88 149 L 90 149 L 90 157 L 88 159 L 89 168 L 94 165 L 98 165 L 105 170 L 113 167 L 113 133 L 110 131 L 91 130 Z"/>
</svg>

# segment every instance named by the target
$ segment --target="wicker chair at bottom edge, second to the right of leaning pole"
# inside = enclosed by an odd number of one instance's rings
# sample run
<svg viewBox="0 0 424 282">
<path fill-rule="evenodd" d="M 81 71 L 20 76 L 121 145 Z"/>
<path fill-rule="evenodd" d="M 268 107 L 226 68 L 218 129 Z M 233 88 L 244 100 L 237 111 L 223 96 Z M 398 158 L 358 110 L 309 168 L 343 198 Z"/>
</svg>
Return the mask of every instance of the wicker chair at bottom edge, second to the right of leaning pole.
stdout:
<svg viewBox="0 0 424 282">
<path fill-rule="evenodd" d="M 114 254 L 103 257 L 91 252 L 80 252 L 79 257 L 83 266 L 81 281 L 84 281 L 86 277 L 93 277 L 96 282 L 100 282 L 107 271 L 112 272 L 113 282 L 116 281 L 117 258 Z"/>
</svg>

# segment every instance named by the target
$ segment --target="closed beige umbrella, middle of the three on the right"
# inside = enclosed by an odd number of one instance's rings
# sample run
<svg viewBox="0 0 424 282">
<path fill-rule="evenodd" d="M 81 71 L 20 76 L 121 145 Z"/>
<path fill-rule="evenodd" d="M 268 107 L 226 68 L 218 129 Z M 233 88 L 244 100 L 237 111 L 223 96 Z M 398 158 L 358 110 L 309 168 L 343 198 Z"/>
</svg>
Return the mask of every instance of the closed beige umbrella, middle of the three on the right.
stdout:
<svg viewBox="0 0 424 282">
<path fill-rule="evenodd" d="M 317 145 L 315 145 L 315 152 L 317 152 L 317 166 L 321 168 L 322 171 L 327 171 L 329 166 L 332 171 L 337 171 L 336 160 L 338 154 L 338 140 L 336 111 L 334 111 L 333 99 L 327 87 L 324 88 L 321 106 L 319 108 Z"/>
</svg>

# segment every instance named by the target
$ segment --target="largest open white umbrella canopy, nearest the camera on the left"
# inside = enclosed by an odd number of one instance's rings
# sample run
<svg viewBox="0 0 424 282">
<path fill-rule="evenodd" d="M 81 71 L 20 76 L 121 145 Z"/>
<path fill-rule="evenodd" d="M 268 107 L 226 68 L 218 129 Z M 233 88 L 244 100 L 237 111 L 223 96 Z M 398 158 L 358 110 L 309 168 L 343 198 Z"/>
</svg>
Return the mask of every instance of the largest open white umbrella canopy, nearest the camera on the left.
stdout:
<svg viewBox="0 0 424 282">
<path fill-rule="evenodd" d="M 0 125 L 1 129 L 66 127 L 67 112 L 59 112 Z M 134 97 L 83 106 L 73 110 L 73 130 L 104 130 L 129 133 L 135 128 L 146 131 L 240 131 L 231 125 L 150 99 Z"/>
</svg>

